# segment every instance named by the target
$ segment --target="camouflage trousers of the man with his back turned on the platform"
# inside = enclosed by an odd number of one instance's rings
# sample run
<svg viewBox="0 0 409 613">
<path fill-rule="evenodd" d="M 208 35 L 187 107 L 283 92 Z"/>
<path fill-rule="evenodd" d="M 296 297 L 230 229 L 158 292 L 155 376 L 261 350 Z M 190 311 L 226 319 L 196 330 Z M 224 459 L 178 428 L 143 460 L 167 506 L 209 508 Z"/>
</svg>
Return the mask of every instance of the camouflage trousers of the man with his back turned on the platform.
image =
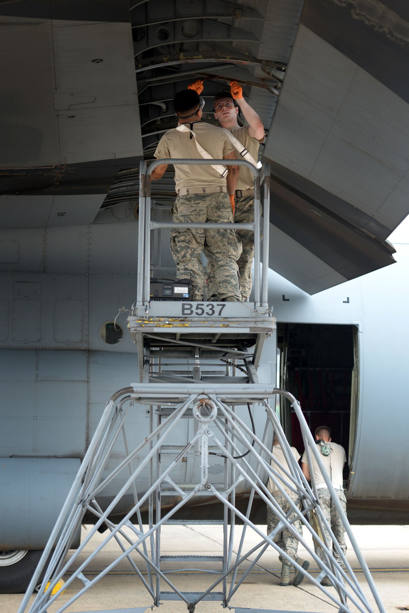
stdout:
<svg viewBox="0 0 409 613">
<path fill-rule="evenodd" d="M 179 223 L 233 223 L 231 204 L 226 192 L 178 196 L 172 207 L 173 221 Z M 216 299 L 240 302 L 239 273 L 236 260 L 241 243 L 234 230 L 172 230 L 170 248 L 176 262 L 178 279 L 190 278 L 192 299 L 203 300 L 204 270 L 201 252 L 206 249 L 214 270 Z"/>
</svg>

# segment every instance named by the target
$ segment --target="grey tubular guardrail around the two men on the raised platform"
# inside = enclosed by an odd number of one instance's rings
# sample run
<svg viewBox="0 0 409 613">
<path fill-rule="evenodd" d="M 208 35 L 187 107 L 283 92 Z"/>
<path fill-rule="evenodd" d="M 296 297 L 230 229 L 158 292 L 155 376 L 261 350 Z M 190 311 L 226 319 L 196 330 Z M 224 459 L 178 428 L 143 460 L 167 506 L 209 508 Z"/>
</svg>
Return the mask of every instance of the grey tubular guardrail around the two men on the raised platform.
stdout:
<svg viewBox="0 0 409 613">
<path fill-rule="evenodd" d="M 223 166 L 246 166 L 254 175 L 254 220 L 252 223 L 195 223 L 178 224 L 151 220 L 151 173 L 160 164 L 221 164 Z M 261 172 L 246 160 L 236 159 L 157 159 L 146 166 L 146 161 L 140 163 L 139 189 L 139 242 L 138 242 L 138 281 L 137 305 L 148 305 L 150 302 L 151 278 L 151 230 L 159 228 L 207 228 L 207 229 L 242 229 L 254 232 L 254 302 L 255 308 L 268 307 L 268 248 L 269 248 L 269 199 L 270 199 L 270 166 L 264 164 Z M 260 224 L 260 188 L 263 197 L 263 253 L 261 254 L 261 224 Z M 263 265 L 262 276 L 260 264 Z M 261 277 L 261 284 L 260 284 Z M 261 291 L 260 291 L 261 286 Z"/>
</svg>

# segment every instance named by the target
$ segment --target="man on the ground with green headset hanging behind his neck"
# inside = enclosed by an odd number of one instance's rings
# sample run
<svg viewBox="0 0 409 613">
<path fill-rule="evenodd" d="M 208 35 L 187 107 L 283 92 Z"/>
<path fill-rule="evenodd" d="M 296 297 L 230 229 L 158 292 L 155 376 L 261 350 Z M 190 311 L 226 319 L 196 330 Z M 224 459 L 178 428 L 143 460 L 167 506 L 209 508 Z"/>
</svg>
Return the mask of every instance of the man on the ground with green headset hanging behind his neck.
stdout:
<svg viewBox="0 0 409 613">
<path fill-rule="evenodd" d="M 315 439 L 317 440 L 317 448 L 321 453 L 321 460 L 324 463 L 325 470 L 331 479 L 332 485 L 337 492 L 337 497 L 342 504 L 342 508 L 347 513 L 347 498 L 345 498 L 345 494 L 343 493 L 343 485 L 342 485 L 342 471 L 345 466 L 345 462 L 347 461 L 347 457 L 345 455 L 345 449 L 337 443 L 332 443 L 331 440 L 331 430 L 326 425 L 321 425 L 315 430 Z M 331 443 L 331 444 L 330 444 Z M 312 454 L 311 454 L 312 455 Z M 347 543 L 345 542 L 345 527 L 342 523 L 342 520 L 339 516 L 339 513 L 336 507 L 332 504 L 331 494 L 329 493 L 329 489 L 326 485 L 325 479 L 318 468 L 317 460 L 312 455 L 312 467 L 313 474 L 315 478 L 315 484 L 317 485 L 318 498 L 320 500 L 321 511 L 325 515 L 325 519 L 328 521 L 328 524 L 331 526 L 331 530 L 334 533 L 335 538 L 337 539 L 340 548 L 343 551 L 343 554 L 347 551 Z M 307 454 L 304 451 L 304 455 L 301 459 L 301 469 L 304 473 L 304 476 L 308 481 L 311 481 L 311 475 L 309 466 L 307 463 Z M 331 538 L 329 536 L 328 530 L 324 528 L 326 540 L 331 548 Z M 323 554 L 323 550 L 317 546 L 314 541 L 315 553 L 318 557 L 325 562 L 325 557 Z M 332 552 L 334 554 L 334 558 L 339 563 L 340 566 L 343 566 L 342 559 L 340 558 L 339 552 L 337 551 L 334 544 L 332 544 Z M 332 585 L 331 581 L 329 581 L 328 577 L 324 577 L 321 581 L 321 585 Z"/>
</svg>

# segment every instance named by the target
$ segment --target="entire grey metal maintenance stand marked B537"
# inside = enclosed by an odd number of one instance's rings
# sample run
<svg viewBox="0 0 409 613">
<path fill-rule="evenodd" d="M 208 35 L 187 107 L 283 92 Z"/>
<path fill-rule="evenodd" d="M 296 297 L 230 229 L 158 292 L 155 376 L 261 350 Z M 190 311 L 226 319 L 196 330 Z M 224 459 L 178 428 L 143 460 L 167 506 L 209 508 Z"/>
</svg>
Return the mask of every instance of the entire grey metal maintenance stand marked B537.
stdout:
<svg viewBox="0 0 409 613">
<path fill-rule="evenodd" d="M 150 174 L 159 162 L 239 164 L 252 170 L 255 177 L 255 215 L 252 223 L 178 224 L 178 227 L 231 229 L 239 226 L 241 229 L 253 231 L 254 302 L 151 300 L 149 280 L 154 274 L 151 261 L 152 243 L 156 240 L 157 244 L 155 232 L 168 230 L 176 225 L 151 219 Z M 313 479 L 312 455 L 324 475 L 326 471 L 298 401 L 288 392 L 276 389 L 275 373 L 274 376 L 267 377 L 268 381 L 259 381 L 258 378 L 263 347 L 276 329 L 275 319 L 268 306 L 269 181 L 268 164 L 259 172 L 249 162 L 236 160 L 162 159 L 152 162 L 149 169 L 146 169 L 145 162 L 141 162 L 137 300 L 128 319 L 130 335 L 138 351 L 140 381 L 119 390 L 108 401 L 18 613 L 26 611 L 29 598 L 52 550 L 54 552 L 51 561 L 47 565 L 36 598 L 28 609 L 29 613 L 47 613 L 48 607 L 58 599 L 58 613 L 62 613 L 124 559 L 129 561 L 130 569 L 146 588 L 151 598 L 146 605 L 148 607 L 159 606 L 165 600 L 185 603 L 189 613 L 195 611 L 195 606 L 200 601 L 220 601 L 223 607 L 230 607 L 236 590 L 269 546 L 288 560 L 308 581 L 320 588 L 329 603 L 332 606 L 335 604 L 339 612 L 351 611 L 348 600 L 353 604 L 354 611 L 358 609 L 362 613 L 385 612 L 328 477 L 326 484 L 372 592 L 375 608 L 369 603 L 320 509 Z M 262 234 L 260 194 L 264 214 Z M 187 368 L 186 364 L 189 363 L 192 363 L 192 367 Z M 298 418 L 312 474 L 311 485 L 304 478 L 285 438 L 279 417 L 272 408 L 275 406 L 276 395 L 288 398 Z M 141 432 L 139 444 L 129 449 L 126 437 L 127 415 L 140 410 L 141 405 L 148 405 L 149 431 Z M 255 433 L 256 414 L 265 414 L 265 428 L 261 438 Z M 188 442 L 183 447 L 176 447 L 171 443 L 171 436 L 181 427 L 182 420 L 186 419 L 189 421 Z M 271 453 L 273 433 L 279 440 L 288 466 L 280 465 Z M 124 459 L 118 459 L 118 444 L 121 440 Z M 113 454 L 114 446 L 116 454 Z M 181 482 L 180 479 L 178 481 L 178 468 L 182 462 L 186 462 L 189 454 L 193 454 L 193 469 L 189 479 L 186 477 L 186 482 Z M 219 462 L 219 467 L 222 467 L 219 471 L 212 470 L 215 459 Z M 275 466 L 284 471 L 286 478 L 277 473 Z M 138 494 L 138 476 L 146 470 L 149 471 L 149 487 Z M 102 509 L 98 502 L 99 496 L 119 473 L 122 476 L 126 474 L 123 478 L 124 485 L 107 508 Z M 291 510 L 287 514 L 269 493 L 266 487 L 268 478 L 272 479 L 290 504 Z M 296 503 L 288 497 L 283 486 L 296 493 Z M 118 520 L 118 517 L 113 515 L 113 509 L 129 491 L 133 495 L 132 508 L 125 517 Z M 236 504 L 238 493 L 246 496 L 245 512 L 240 511 Z M 176 503 L 168 505 L 167 500 L 170 498 L 176 500 Z M 211 523 L 220 523 L 223 527 L 223 555 L 206 556 L 194 552 L 189 555 L 162 555 L 162 527 L 167 524 L 195 523 L 178 520 L 174 516 L 186 506 L 203 503 L 204 498 L 218 501 L 222 506 L 222 519 Z M 279 518 L 277 527 L 268 536 L 264 527 L 255 525 L 250 520 L 255 501 L 258 505 L 266 504 Z M 141 517 L 141 512 L 146 507 L 148 527 L 143 525 Z M 95 516 L 96 524 L 80 547 L 67 558 L 81 522 L 85 514 L 89 516 L 90 512 Z M 236 518 L 244 526 L 238 552 L 233 553 Z M 309 547 L 296 530 L 293 524 L 297 519 L 301 520 L 303 529 L 312 534 L 325 561 L 318 557 L 315 550 Z M 198 520 L 196 523 L 206 522 Z M 109 530 L 108 536 L 91 554 L 87 554 L 84 562 L 76 568 L 78 556 L 84 555 L 84 548 L 103 524 Z M 329 542 L 324 527 L 328 531 Z M 320 569 L 318 576 L 313 577 L 274 543 L 276 535 L 285 528 L 306 547 Z M 249 529 L 258 535 L 260 541 L 252 549 L 244 551 L 246 531 Z M 119 544 L 122 553 L 107 568 L 89 580 L 86 578 L 87 566 L 111 539 L 115 539 Z M 337 562 L 334 551 L 341 562 Z M 143 562 L 145 575 L 141 573 L 137 560 Z M 167 570 L 169 563 L 180 564 L 179 570 L 186 569 L 186 566 L 192 570 L 192 563 L 215 561 L 220 562 L 220 573 L 203 592 L 182 592 L 171 581 L 171 574 Z M 241 576 L 237 580 L 238 571 Z M 174 569 L 171 572 L 175 572 Z M 67 573 L 70 573 L 68 577 Z M 61 585 L 59 582 L 63 576 L 66 576 L 66 582 Z M 331 588 L 320 584 L 324 577 L 328 577 Z M 61 597 L 75 579 L 80 579 L 82 587 L 72 596 Z M 47 584 L 49 585 L 46 589 Z M 164 584 L 166 590 L 163 590 Z M 255 610 L 247 611 L 250 613 Z M 121 611 L 125 609 L 111 610 L 112 613 Z M 144 609 L 126 611 L 137 613 Z M 238 611 L 244 612 L 246 609 L 236 609 L 236 612 Z M 257 611 L 261 613 L 266 610 Z"/>
</svg>

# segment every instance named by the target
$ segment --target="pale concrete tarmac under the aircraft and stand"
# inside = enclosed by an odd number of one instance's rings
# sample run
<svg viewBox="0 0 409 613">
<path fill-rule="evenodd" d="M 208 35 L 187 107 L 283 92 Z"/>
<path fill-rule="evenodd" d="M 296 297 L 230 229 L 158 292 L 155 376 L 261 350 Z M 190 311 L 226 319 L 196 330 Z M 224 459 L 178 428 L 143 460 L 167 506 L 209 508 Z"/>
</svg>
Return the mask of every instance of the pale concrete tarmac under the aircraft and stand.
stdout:
<svg viewBox="0 0 409 613">
<path fill-rule="evenodd" d="M 82 539 L 88 534 L 90 526 L 83 527 Z M 263 530 L 265 527 L 263 527 Z M 367 564 L 372 571 L 373 579 L 377 585 L 381 600 L 388 613 L 397 611 L 409 611 L 409 525 L 406 526 L 354 526 L 356 538 L 358 539 L 361 551 L 366 558 Z M 241 537 L 242 527 L 236 526 L 233 541 L 233 551 L 237 552 Z M 96 533 L 86 546 L 86 550 L 81 552 L 75 560 L 75 568 L 86 558 L 86 552 L 91 552 L 103 539 L 108 532 L 100 535 Z M 306 535 L 304 537 L 312 546 L 312 539 Z M 260 537 L 247 530 L 245 547 L 246 551 L 260 542 Z M 378 611 L 369 587 L 366 584 L 364 575 L 359 569 L 356 556 L 348 543 L 347 558 L 351 567 L 356 571 L 356 577 L 362 589 L 369 596 L 369 601 L 373 606 L 373 611 Z M 162 555 L 220 555 L 223 550 L 223 533 L 220 526 L 211 525 L 187 525 L 173 526 L 167 525 L 162 529 Z M 84 571 L 87 579 L 92 581 L 98 573 L 107 568 L 113 562 L 118 552 L 121 552 L 118 544 L 110 541 Z M 75 552 L 70 552 L 73 555 Z M 298 554 L 302 558 L 309 559 L 311 562 L 309 571 L 313 577 L 318 574 L 317 565 L 307 552 L 299 547 Z M 250 556 L 253 560 L 257 553 Z M 137 555 L 133 556 L 141 573 L 146 577 L 146 565 Z M 234 555 L 233 555 L 234 559 Z M 248 567 L 249 563 L 244 563 Z M 179 563 L 178 563 L 179 565 Z M 182 591 L 199 592 L 205 590 L 216 580 L 217 574 L 206 571 L 215 571 L 220 568 L 220 562 L 190 562 L 186 563 L 189 568 L 197 568 L 198 571 L 185 570 L 168 574 L 167 577 L 174 582 L 174 585 Z M 334 612 L 339 609 L 318 587 L 312 585 L 308 579 L 304 579 L 299 587 L 280 587 L 279 575 L 281 565 L 278 555 L 269 547 L 265 554 L 254 566 L 244 583 L 233 595 L 230 607 L 243 607 L 260 611 L 263 609 L 274 609 L 276 611 L 308 611 L 314 613 Z M 174 570 L 176 563 L 164 562 L 163 569 Z M 238 573 L 236 581 L 240 579 L 242 573 Z M 67 581 L 70 574 L 64 579 Z M 161 582 L 162 590 L 167 590 L 164 582 Z M 78 579 L 72 582 L 59 601 L 48 607 L 48 613 L 56 613 L 63 603 L 66 603 L 83 584 Z M 220 590 L 220 587 L 214 588 Z M 336 595 L 334 588 L 329 588 Z M 21 595 L 0 595 L 0 612 L 15 613 L 21 602 Z M 101 611 L 118 608 L 149 607 L 152 599 L 143 587 L 141 580 L 135 576 L 134 571 L 127 562 L 122 561 L 105 577 L 100 579 L 94 587 L 86 592 L 78 601 L 75 601 L 67 609 L 67 613 L 83 611 Z M 220 602 L 203 602 L 197 605 L 197 613 L 214 613 L 220 611 Z M 350 605 L 351 611 L 358 609 Z M 162 613 L 176 613 L 187 611 L 186 604 L 178 601 L 163 601 L 159 609 Z M 148 613 L 148 611 L 147 611 Z"/>
</svg>

